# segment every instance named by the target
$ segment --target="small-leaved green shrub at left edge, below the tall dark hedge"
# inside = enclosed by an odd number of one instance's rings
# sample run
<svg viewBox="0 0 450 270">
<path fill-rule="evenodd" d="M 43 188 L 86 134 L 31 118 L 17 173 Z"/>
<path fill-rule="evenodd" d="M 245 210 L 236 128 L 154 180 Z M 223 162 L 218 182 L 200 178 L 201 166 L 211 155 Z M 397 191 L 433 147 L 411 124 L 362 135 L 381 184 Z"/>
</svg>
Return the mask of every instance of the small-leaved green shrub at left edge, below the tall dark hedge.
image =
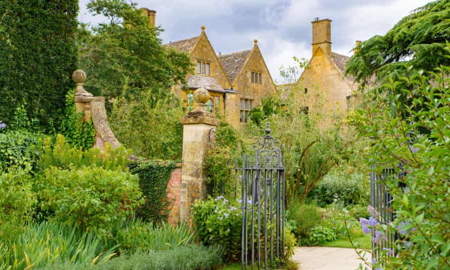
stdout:
<svg viewBox="0 0 450 270">
<path fill-rule="evenodd" d="M 0 133 L 0 170 L 15 166 L 35 170 L 41 154 L 41 136 L 25 130 Z"/>
</svg>

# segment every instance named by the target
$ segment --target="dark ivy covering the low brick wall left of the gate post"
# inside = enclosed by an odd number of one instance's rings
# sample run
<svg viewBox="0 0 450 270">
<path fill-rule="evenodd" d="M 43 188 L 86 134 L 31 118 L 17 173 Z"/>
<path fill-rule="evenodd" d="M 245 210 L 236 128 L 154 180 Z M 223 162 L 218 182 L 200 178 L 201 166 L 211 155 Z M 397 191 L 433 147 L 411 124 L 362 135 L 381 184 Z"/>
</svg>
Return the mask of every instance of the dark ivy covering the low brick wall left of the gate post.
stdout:
<svg viewBox="0 0 450 270">
<path fill-rule="evenodd" d="M 159 222 L 167 218 L 168 206 L 167 183 L 175 168 L 174 162 L 143 161 L 130 164 L 131 173 L 139 175 L 139 185 L 145 203 L 137 214 L 144 220 Z"/>
</svg>

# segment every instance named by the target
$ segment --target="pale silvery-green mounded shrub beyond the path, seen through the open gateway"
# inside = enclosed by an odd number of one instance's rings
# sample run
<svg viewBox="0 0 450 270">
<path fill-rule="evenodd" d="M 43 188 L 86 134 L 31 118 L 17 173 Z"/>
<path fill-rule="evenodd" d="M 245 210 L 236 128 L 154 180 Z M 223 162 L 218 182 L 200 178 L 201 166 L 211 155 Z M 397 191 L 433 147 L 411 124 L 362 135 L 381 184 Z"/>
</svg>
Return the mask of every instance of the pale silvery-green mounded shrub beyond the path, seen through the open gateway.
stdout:
<svg viewBox="0 0 450 270">
<path fill-rule="evenodd" d="M 311 196 L 320 206 L 335 201 L 344 205 L 364 203 L 368 201 L 369 194 L 364 190 L 363 181 L 365 176 L 361 173 L 349 174 L 343 170 L 333 170 L 325 175 Z"/>
</svg>

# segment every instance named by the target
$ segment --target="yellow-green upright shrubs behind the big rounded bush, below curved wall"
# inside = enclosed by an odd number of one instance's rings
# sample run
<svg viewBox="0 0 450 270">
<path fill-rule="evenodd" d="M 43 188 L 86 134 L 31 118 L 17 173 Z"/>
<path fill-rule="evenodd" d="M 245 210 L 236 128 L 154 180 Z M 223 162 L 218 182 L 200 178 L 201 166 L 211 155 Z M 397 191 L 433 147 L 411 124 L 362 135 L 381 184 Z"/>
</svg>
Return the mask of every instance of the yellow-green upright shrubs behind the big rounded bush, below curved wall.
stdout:
<svg viewBox="0 0 450 270">
<path fill-rule="evenodd" d="M 105 144 L 104 153 L 98 148 L 83 151 L 72 147 L 66 142 L 64 136 L 58 134 L 54 145 L 51 138 L 44 141 L 43 154 L 38 165 L 42 170 L 50 166 L 61 169 L 97 166 L 109 170 L 128 171 L 129 155 L 129 151 L 124 147 L 112 149 L 109 144 Z"/>
</svg>

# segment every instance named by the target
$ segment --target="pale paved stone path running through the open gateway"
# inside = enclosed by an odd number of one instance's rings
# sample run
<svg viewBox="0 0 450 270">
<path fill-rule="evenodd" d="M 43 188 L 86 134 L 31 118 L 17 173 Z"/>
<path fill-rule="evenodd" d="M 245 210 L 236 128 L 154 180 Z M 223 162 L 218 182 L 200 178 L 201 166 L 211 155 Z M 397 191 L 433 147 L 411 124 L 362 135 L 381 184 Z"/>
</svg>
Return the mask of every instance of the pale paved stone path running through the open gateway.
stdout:
<svg viewBox="0 0 450 270">
<path fill-rule="evenodd" d="M 292 259 L 300 262 L 301 270 L 354 270 L 361 262 L 351 248 L 330 247 L 297 247 Z"/>
</svg>

